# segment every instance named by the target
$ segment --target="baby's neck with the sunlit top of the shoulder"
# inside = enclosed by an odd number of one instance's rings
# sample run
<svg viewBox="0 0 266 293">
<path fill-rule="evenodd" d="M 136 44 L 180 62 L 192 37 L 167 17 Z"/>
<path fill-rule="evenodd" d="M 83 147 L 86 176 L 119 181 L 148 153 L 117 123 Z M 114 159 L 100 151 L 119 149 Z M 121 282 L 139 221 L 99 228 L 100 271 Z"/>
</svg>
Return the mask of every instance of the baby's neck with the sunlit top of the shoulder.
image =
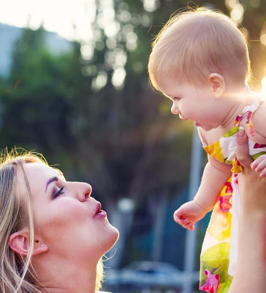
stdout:
<svg viewBox="0 0 266 293">
<path fill-rule="evenodd" d="M 220 128 L 231 128 L 236 117 L 243 111 L 244 107 L 253 105 L 260 99 L 260 96 L 258 93 L 249 90 L 230 98 L 233 99 L 233 102 Z"/>
</svg>

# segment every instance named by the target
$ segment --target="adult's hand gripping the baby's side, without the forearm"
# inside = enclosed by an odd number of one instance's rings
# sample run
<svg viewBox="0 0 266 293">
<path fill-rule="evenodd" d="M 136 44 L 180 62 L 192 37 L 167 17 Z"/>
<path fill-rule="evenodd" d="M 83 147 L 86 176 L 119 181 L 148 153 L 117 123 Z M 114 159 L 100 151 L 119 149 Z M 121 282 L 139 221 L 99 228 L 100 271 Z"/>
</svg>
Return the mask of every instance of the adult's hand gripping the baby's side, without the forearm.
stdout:
<svg viewBox="0 0 266 293">
<path fill-rule="evenodd" d="M 261 170 L 259 166 L 264 166 L 265 156 L 252 161 L 248 152 L 248 138 L 242 129 L 237 135 L 237 159 L 244 167 L 244 171 L 238 174 L 241 209 L 245 215 L 255 215 L 258 212 L 266 214 L 266 178 L 262 178 L 259 174 Z M 255 166 L 259 167 L 258 172 L 252 170 Z"/>
</svg>

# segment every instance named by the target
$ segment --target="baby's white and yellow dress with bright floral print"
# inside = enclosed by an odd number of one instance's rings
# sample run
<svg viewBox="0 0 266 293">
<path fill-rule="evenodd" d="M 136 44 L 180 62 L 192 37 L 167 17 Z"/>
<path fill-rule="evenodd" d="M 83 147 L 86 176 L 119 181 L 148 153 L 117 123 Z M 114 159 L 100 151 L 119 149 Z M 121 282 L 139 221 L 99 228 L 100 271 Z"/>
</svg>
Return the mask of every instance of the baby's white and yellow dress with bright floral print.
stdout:
<svg viewBox="0 0 266 293">
<path fill-rule="evenodd" d="M 232 176 L 226 182 L 213 209 L 200 255 L 199 289 L 209 293 L 227 293 L 231 285 L 237 260 L 240 195 L 238 173 L 243 170 L 236 158 L 236 136 L 239 124 L 246 114 L 250 136 L 254 136 L 251 116 L 262 102 L 247 106 L 235 125 L 216 143 L 203 146 L 206 152 L 220 162 L 232 165 Z M 255 160 L 266 154 L 266 145 L 248 141 L 249 154 Z"/>
</svg>

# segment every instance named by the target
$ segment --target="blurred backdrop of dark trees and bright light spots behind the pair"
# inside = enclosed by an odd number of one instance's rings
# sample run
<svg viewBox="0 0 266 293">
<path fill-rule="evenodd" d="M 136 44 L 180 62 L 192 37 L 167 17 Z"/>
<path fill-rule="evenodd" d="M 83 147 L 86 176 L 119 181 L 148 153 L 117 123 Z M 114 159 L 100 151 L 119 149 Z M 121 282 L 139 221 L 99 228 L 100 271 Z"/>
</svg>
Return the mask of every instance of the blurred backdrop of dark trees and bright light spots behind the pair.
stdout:
<svg viewBox="0 0 266 293">
<path fill-rule="evenodd" d="M 0 149 L 43 153 L 92 185 L 120 230 L 106 291 L 199 292 L 209 215 L 187 233 L 173 212 L 195 194 L 206 156 L 147 75 L 150 43 L 188 5 L 242 24 L 252 87 L 266 91 L 266 0 L 0 0 Z"/>
</svg>

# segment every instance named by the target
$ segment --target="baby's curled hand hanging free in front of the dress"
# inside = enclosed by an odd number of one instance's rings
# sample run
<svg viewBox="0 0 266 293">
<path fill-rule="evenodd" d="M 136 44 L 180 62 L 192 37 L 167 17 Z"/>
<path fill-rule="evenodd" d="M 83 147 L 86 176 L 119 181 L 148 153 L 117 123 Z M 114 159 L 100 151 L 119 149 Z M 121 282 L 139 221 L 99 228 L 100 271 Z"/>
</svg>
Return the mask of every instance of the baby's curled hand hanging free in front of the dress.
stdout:
<svg viewBox="0 0 266 293">
<path fill-rule="evenodd" d="M 174 220 L 183 228 L 190 231 L 195 230 L 195 223 L 206 215 L 206 211 L 202 209 L 195 201 L 183 204 L 174 213 Z"/>
</svg>

